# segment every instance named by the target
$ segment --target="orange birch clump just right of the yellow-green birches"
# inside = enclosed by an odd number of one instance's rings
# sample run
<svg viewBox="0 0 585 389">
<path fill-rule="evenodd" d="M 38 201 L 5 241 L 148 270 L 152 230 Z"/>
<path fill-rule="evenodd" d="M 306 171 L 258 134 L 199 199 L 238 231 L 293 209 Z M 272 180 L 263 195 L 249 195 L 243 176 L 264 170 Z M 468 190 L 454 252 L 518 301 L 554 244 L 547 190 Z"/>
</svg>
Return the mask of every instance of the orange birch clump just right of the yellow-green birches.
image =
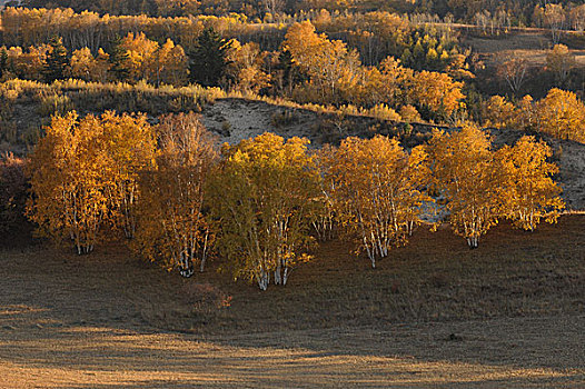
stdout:
<svg viewBox="0 0 585 389">
<path fill-rule="evenodd" d="M 336 215 L 343 226 L 359 237 L 371 267 L 404 245 L 420 222 L 420 206 L 430 177 L 426 152 L 408 154 L 396 139 L 346 138 L 326 170 L 333 180 Z"/>
</svg>

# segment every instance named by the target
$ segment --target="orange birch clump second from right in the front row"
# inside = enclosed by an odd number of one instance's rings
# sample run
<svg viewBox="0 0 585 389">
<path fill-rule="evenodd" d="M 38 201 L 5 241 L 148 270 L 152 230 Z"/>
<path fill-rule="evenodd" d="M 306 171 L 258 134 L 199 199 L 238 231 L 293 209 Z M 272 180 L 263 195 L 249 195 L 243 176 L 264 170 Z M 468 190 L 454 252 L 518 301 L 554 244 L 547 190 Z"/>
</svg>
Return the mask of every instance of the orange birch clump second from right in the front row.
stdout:
<svg viewBox="0 0 585 389">
<path fill-rule="evenodd" d="M 472 249 L 497 223 L 500 211 L 489 148 L 487 133 L 472 123 L 454 132 L 436 130 L 429 143 L 435 184 L 445 197 L 449 222 Z"/>
</svg>

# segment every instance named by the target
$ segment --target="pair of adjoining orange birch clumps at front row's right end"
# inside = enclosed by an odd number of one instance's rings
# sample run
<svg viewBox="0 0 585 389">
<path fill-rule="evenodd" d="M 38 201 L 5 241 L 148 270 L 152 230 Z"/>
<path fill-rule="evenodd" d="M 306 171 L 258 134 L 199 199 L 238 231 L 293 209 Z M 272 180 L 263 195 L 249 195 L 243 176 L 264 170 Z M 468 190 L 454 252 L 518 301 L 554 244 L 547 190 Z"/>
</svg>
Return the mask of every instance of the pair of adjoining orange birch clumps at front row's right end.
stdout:
<svg viewBox="0 0 585 389">
<path fill-rule="evenodd" d="M 494 151 L 490 146 L 475 124 L 435 132 L 430 141 L 436 188 L 445 196 L 455 232 L 472 248 L 502 217 L 534 230 L 543 217 L 556 220 L 555 211 L 564 207 L 552 180 L 558 169 L 547 161 L 552 151 L 544 141 L 525 136 L 514 147 Z"/>
</svg>

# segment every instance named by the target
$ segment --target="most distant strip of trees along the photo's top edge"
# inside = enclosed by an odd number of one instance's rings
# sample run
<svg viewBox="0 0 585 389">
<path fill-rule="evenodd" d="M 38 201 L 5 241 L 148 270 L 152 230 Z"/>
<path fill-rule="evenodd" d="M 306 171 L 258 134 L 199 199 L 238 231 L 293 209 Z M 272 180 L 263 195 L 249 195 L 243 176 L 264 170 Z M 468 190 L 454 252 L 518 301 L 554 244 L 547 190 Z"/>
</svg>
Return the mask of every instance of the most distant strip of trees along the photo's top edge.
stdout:
<svg viewBox="0 0 585 389">
<path fill-rule="evenodd" d="M 493 1 L 493 0 L 146 0 L 146 1 L 71 1 L 56 0 L 47 3 L 39 0 L 20 1 L 21 6 L 72 8 L 78 12 L 93 11 L 100 14 L 149 14 L 158 17 L 180 16 L 224 16 L 240 13 L 250 19 L 264 19 L 266 21 L 282 20 L 287 16 L 310 14 L 314 10 L 327 10 L 329 12 L 364 12 L 371 9 L 380 9 L 396 13 L 432 13 L 440 18 L 450 16 L 453 20 L 470 22 L 477 16 L 494 16 L 493 21 L 523 26 L 542 26 L 546 23 L 547 13 L 563 16 L 565 26 L 579 30 L 583 19 L 583 6 L 578 2 L 556 1 L 549 3 L 539 0 L 527 1 Z M 552 7 L 554 6 L 554 7 Z M 492 19 L 492 18 L 489 18 Z"/>
</svg>

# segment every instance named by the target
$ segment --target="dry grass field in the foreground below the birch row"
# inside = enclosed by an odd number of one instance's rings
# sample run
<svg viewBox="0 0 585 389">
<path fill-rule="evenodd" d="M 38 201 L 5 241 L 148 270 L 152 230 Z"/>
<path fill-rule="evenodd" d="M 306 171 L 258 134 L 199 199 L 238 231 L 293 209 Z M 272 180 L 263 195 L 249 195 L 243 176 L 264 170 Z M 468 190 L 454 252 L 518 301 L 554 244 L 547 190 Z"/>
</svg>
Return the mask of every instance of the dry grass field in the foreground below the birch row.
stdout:
<svg viewBox="0 0 585 389">
<path fill-rule="evenodd" d="M 585 387 L 584 216 L 420 229 L 376 270 L 331 241 L 266 292 L 212 268 L 1 250 L 0 388 Z"/>
</svg>

